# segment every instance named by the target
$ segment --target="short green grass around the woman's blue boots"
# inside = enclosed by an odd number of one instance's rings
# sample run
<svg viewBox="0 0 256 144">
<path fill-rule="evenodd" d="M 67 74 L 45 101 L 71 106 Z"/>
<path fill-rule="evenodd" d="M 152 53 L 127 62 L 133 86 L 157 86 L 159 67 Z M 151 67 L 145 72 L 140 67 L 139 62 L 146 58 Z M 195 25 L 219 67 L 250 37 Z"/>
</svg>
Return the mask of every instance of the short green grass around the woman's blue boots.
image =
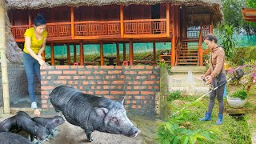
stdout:
<svg viewBox="0 0 256 144">
<path fill-rule="evenodd" d="M 199 96 L 198 96 L 199 97 Z M 179 99 L 182 102 L 193 102 L 198 97 L 186 96 Z M 210 130 L 217 129 L 218 133 L 216 136 L 218 140 L 216 142 L 213 141 L 203 141 L 197 143 L 209 143 L 209 144 L 249 144 L 251 143 L 250 139 L 250 129 L 247 125 L 247 118 L 241 117 L 236 118 L 234 116 L 230 116 L 224 112 L 223 114 L 223 123 L 221 126 L 216 126 L 215 122 L 218 119 L 218 102 L 215 101 L 215 106 L 212 114 L 212 120 L 207 122 L 200 122 L 198 118 L 202 118 L 204 116 L 205 111 L 207 110 L 208 98 L 202 98 L 201 101 L 197 102 L 193 106 L 188 107 L 191 112 L 189 117 L 187 118 L 187 122 L 190 122 L 190 126 L 188 127 L 191 130 L 202 129 L 202 130 Z M 179 102 L 179 103 L 182 103 Z M 177 105 L 176 105 L 177 106 Z M 178 106 L 182 107 L 182 106 Z"/>
</svg>

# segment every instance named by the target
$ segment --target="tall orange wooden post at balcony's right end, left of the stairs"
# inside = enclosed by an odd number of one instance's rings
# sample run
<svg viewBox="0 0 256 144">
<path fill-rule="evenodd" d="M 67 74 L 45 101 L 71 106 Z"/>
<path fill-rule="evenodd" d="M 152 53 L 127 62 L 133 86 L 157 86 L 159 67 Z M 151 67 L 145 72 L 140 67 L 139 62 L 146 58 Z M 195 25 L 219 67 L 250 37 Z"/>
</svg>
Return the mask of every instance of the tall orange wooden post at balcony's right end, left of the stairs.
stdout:
<svg viewBox="0 0 256 144">
<path fill-rule="evenodd" d="M 176 19 L 175 19 L 175 6 L 172 6 L 171 7 L 171 18 L 172 18 L 172 21 L 173 21 L 173 24 L 172 24 L 172 32 L 173 32 L 173 37 L 171 38 L 171 62 L 170 62 L 170 66 L 174 66 L 175 65 L 175 42 L 176 42 Z"/>
</svg>

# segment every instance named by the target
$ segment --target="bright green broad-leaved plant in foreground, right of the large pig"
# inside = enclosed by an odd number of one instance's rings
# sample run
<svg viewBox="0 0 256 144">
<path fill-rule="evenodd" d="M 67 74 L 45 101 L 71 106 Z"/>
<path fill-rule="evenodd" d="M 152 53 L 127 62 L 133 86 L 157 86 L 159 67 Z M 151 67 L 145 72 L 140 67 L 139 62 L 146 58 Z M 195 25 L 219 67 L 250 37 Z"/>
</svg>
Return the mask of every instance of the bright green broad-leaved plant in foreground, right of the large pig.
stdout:
<svg viewBox="0 0 256 144">
<path fill-rule="evenodd" d="M 202 142 L 205 139 L 217 139 L 212 134 L 216 133 L 216 130 L 189 130 L 181 126 L 183 122 L 186 122 L 187 117 L 189 117 L 188 111 L 182 111 L 179 115 L 172 116 L 168 122 L 161 123 L 158 127 L 158 142 L 163 144 L 194 144 L 196 142 Z"/>
</svg>

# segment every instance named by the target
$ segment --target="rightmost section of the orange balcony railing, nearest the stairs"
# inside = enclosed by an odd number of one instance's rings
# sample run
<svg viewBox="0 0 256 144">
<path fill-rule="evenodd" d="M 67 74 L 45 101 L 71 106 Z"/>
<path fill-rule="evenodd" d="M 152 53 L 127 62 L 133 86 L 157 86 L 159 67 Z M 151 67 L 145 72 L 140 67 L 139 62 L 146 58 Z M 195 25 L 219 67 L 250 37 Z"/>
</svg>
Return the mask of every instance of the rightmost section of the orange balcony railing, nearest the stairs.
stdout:
<svg viewBox="0 0 256 144">
<path fill-rule="evenodd" d="M 166 19 L 125 20 L 124 35 L 166 34 Z"/>
</svg>

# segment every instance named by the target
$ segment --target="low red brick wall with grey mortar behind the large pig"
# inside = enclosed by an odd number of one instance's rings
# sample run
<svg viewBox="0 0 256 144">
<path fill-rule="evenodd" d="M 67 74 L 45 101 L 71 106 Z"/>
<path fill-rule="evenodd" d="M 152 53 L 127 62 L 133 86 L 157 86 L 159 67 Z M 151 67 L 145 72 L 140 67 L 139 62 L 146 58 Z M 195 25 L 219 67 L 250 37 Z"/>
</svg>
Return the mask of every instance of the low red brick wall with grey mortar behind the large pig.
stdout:
<svg viewBox="0 0 256 144">
<path fill-rule="evenodd" d="M 159 73 L 158 66 L 49 66 L 41 71 L 42 108 L 52 108 L 50 92 L 66 85 L 115 100 L 125 96 L 127 111 L 151 115 Z"/>
</svg>

